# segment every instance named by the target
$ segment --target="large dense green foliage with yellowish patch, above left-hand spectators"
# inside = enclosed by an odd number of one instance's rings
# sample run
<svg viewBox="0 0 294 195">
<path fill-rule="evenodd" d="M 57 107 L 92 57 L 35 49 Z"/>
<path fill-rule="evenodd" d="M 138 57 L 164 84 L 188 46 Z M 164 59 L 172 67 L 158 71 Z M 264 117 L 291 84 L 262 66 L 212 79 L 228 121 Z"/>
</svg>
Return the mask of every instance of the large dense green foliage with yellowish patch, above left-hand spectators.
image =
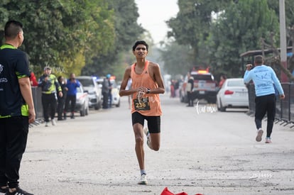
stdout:
<svg viewBox="0 0 294 195">
<path fill-rule="evenodd" d="M 0 7 L 1 25 L 9 19 L 23 23 L 21 49 L 28 53 L 36 74 L 45 65 L 69 74 L 114 45 L 114 13 L 105 0 L 11 0 L 1 1 Z"/>
</svg>

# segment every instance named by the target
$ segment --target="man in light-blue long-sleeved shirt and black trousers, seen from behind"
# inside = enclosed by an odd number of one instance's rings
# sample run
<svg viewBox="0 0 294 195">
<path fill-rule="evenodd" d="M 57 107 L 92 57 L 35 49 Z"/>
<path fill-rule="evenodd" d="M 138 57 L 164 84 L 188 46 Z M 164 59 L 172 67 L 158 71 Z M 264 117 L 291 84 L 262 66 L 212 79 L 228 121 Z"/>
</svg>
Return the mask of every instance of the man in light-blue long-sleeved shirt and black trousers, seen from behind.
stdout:
<svg viewBox="0 0 294 195">
<path fill-rule="evenodd" d="M 285 94 L 276 73 L 271 67 L 263 65 L 263 57 L 256 55 L 254 57 L 254 68 L 252 65 L 246 65 L 244 82 L 247 84 L 251 80 L 254 82 L 255 99 L 255 124 L 257 128 L 256 141 L 260 142 L 263 135 L 261 121 L 267 113 L 266 143 L 271 143 L 271 133 L 273 131 L 273 121 L 276 115 L 276 95 L 273 84 L 280 95 L 280 99 L 285 99 Z"/>
</svg>

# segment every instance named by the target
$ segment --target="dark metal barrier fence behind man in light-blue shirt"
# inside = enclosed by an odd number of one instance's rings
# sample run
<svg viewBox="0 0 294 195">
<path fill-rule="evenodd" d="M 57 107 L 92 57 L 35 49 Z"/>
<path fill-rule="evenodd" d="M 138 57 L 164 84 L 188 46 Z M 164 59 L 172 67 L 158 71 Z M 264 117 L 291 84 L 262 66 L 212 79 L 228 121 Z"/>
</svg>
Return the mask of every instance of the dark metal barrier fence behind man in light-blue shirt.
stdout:
<svg viewBox="0 0 294 195">
<path fill-rule="evenodd" d="M 282 83 L 282 87 L 285 93 L 285 99 L 281 100 L 277 98 L 276 101 L 276 123 L 280 123 L 283 126 L 288 124 L 294 124 L 294 83 Z M 248 115 L 254 115 L 255 113 L 255 89 L 254 84 L 248 85 L 249 94 L 249 112 Z M 292 111 L 292 112 L 291 112 Z M 293 128 L 290 126 L 290 128 Z"/>
</svg>

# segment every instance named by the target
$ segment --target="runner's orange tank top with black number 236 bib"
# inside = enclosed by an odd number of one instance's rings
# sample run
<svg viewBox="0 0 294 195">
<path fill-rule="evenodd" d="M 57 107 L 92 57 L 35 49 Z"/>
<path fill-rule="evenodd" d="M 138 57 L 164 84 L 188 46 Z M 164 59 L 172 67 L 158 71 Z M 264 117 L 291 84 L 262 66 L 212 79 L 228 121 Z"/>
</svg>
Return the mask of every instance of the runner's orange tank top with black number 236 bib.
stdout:
<svg viewBox="0 0 294 195">
<path fill-rule="evenodd" d="M 149 61 L 146 61 L 145 67 L 141 74 L 135 72 L 135 66 L 131 65 L 131 80 L 132 89 L 138 87 L 146 87 L 148 89 L 158 88 L 158 84 L 153 81 L 149 75 L 148 66 Z M 136 92 L 132 97 L 131 113 L 134 112 L 141 113 L 143 116 L 161 116 L 162 111 L 160 107 L 159 94 L 146 94 L 141 92 Z"/>
</svg>

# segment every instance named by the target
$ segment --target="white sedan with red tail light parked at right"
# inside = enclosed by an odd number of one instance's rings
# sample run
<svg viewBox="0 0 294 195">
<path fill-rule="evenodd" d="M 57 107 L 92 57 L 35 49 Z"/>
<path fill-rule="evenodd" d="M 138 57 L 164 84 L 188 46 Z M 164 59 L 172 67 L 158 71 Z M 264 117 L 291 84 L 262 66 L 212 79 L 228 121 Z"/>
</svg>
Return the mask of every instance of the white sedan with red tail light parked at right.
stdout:
<svg viewBox="0 0 294 195">
<path fill-rule="evenodd" d="M 227 79 L 217 93 L 217 109 L 249 108 L 248 89 L 242 78 Z"/>
</svg>

